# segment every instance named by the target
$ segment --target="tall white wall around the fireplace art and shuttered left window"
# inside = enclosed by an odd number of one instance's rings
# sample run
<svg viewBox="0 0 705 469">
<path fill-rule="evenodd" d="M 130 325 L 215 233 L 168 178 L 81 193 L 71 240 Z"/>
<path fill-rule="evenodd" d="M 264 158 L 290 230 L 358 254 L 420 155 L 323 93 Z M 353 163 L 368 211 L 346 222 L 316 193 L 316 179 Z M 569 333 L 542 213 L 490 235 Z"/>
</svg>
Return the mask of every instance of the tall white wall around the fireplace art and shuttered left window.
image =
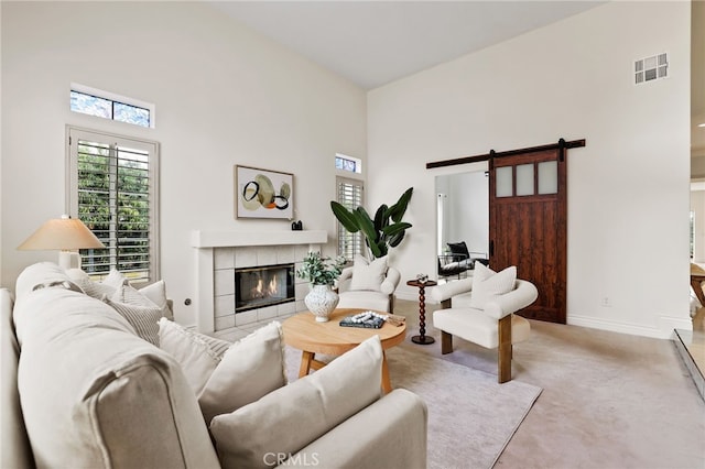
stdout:
<svg viewBox="0 0 705 469">
<path fill-rule="evenodd" d="M 234 218 L 235 164 L 294 173 L 295 217 L 333 238 L 335 153 L 366 159 L 362 89 L 199 2 L 1 8 L 3 286 L 56 259 L 15 247 L 65 211 L 66 124 L 160 142 L 162 276 L 184 324 L 196 313 L 184 306 L 195 295 L 192 230 L 290 229 Z M 156 128 L 70 112 L 72 81 L 154 102 Z"/>
</svg>

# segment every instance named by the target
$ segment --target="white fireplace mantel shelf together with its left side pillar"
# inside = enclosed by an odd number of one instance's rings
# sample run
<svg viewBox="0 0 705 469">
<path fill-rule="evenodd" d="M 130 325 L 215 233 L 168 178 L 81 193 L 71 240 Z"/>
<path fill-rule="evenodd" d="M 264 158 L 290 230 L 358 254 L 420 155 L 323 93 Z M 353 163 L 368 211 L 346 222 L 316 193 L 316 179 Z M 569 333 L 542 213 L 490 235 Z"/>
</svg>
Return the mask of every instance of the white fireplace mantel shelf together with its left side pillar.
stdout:
<svg viewBox="0 0 705 469">
<path fill-rule="evenodd" d="M 196 328 L 199 332 L 215 331 L 214 269 L 216 251 L 221 248 L 251 248 L 276 246 L 305 246 L 317 250 L 328 241 L 325 230 L 281 231 L 205 231 L 191 232 L 191 246 L 195 251 L 197 305 Z"/>
</svg>

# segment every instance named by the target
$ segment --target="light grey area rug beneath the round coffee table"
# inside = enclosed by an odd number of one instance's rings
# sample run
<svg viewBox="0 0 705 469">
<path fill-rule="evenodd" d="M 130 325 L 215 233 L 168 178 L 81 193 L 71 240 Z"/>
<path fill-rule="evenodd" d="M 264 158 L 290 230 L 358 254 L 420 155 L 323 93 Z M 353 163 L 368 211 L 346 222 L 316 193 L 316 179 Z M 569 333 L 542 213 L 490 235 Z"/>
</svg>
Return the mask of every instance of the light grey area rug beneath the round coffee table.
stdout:
<svg viewBox="0 0 705 469">
<path fill-rule="evenodd" d="M 403 347 L 387 351 L 393 388 L 419 394 L 429 406 L 429 468 L 491 468 L 541 389 Z M 286 347 L 286 372 L 296 379 L 301 351 Z"/>
</svg>

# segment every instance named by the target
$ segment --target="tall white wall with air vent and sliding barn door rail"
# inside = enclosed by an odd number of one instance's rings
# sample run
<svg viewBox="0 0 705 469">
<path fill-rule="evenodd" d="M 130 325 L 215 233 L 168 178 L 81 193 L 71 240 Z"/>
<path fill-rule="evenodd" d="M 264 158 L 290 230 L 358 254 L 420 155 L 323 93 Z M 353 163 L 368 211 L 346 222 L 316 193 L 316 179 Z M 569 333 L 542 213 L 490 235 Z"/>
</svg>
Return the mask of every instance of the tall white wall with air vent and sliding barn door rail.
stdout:
<svg viewBox="0 0 705 469">
<path fill-rule="evenodd" d="M 632 85 L 633 61 L 662 52 L 670 78 Z M 369 92 L 368 200 L 414 186 L 394 263 L 434 272 L 449 170 L 425 163 L 585 138 L 568 152 L 567 320 L 669 337 L 691 328 L 688 129 L 690 2 L 610 2 Z"/>
</svg>

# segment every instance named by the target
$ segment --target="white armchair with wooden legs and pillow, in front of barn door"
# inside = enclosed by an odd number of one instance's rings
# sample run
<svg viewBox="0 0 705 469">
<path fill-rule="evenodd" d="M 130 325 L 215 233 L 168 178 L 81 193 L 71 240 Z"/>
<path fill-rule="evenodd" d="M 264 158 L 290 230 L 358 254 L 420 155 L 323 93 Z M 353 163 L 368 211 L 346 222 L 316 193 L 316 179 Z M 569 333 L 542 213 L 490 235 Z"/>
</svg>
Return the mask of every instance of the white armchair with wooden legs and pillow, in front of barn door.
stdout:
<svg viewBox="0 0 705 469">
<path fill-rule="evenodd" d="M 538 296 L 531 282 L 517 279 L 514 266 L 496 273 L 478 263 L 471 277 L 435 286 L 431 297 L 444 307 L 433 313 L 433 327 L 441 330 L 441 352 L 453 351 L 453 336 L 499 349 L 498 381 L 510 381 L 512 343 L 528 339 L 531 330 L 529 321 L 513 313 Z"/>
</svg>

